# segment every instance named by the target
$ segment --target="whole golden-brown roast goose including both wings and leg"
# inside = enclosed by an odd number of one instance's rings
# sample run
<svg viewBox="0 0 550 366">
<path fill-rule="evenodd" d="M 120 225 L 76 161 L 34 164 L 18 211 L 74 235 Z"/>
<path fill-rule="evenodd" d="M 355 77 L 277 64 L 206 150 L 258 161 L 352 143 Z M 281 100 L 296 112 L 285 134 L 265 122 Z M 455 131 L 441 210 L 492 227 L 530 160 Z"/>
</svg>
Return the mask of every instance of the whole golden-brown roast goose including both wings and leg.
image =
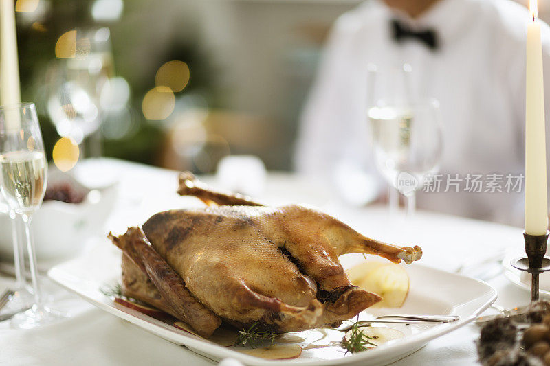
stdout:
<svg viewBox="0 0 550 366">
<path fill-rule="evenodd" d="M 410 264 L 420 247 L 366 238 L 343 222 L 300 205 L 267 207 L 214 192 L 190 173 L 179 194 L 208 207 L 155 214 L 142 229 L 109 234 L 122 249 L 125 295 L 210 336 L 221 322 L 276 332 L 336 325 L 380 301 L 353 286 L 338 257 L 380 255 Z"/>
</svg>

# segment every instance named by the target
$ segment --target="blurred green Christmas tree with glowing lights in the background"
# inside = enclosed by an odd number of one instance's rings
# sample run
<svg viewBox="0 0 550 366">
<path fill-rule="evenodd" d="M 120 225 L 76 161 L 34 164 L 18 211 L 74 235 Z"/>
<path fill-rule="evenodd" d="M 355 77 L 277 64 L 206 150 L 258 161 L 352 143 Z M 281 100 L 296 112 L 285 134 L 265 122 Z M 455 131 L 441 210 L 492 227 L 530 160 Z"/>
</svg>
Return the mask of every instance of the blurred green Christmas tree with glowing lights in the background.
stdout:
<svg viewBox="0 0 550 366">
<path fill-rule="evenodd" d="M 21 2 L 23 0 L 18 0 Z M 112 133 L 112 128 L 103 128 L 103 155 L 142 163 L 155 163 L 163 141 L 162 121 L 148 121 L 142 113 L 144 95 L 155 87 L 155 75 L 159 67 L 171 60 L 188 65 L 190 78 L 181 95 L 201 95 L 208 104 L 214 103 L 212 70 L 205 62 L 199 45 L 190 34 L 182 34 L 177 28 L 163 29 L 162 39 L 155 40 L 155 26 L 166 27 L 163 19 L 151 24 L 146 17 L 170 13 L 177 1 L 149 2 L 143 0 L 112 0 L 111 5 L 122 6 L 120 19 L 99 19 L 91 16 L 94 7 L 109 0 L 34 0 L 38 5 L 32 11 L 18 12 L 17 32 L 19 67 L 23 101 L 36 102 L 43 130 L 47 154 L 59 135 L 47 113 L 45 75 L 47 67 L 55 60 L 58 38 L 75 28 L 107 26 L 111 33 L 115 75 L 126 80 L 131 91 L 127 113 L 120 117 L 109 115 L 109 126 L 126 126 Z M 17 5 L 16 5 L 17 6 Z M 159 7 L 163 8 L 159 8 Z M 181 5 L 177 9 L 181 9 Z M 166 8 L 164 8 L 166 7 Z M 107 6 L 107 10 L 108 10 Z M 156 11 L 156 13 L 155 13 Z M 146 15 L 147 14 L 147 15 Z M 153 14 L 153 15 L 152 15 Z M 108 14 L 109 15 L 109 14 Z M 120 118 L 120 120 L 118 120 Z M 130 122 L 129 122 L 130 121 Z"/>
</svg>

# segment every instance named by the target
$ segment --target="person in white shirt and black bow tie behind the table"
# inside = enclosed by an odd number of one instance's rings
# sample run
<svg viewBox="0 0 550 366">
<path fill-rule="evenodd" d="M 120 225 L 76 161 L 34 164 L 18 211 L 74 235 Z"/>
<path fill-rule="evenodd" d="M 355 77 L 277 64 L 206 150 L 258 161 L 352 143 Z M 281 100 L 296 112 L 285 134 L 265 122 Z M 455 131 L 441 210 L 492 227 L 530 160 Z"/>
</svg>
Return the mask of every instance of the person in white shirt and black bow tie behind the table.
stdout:
<svg viewBox="0 0 550 366">
<path fill-rule="evenodd" d="M 297 170 L 331 176 L 344 161 L 375 173 L 366 117 L 367 65 L 406 62 L 414 93 L 437 98 L 441 110 L 443 183 L 439 193 L 420 190 L 418 207 L 522 225 L 523 192 L 506 192 L 505 183 L 507 175 L 525 171 L 529 19 L 527 8 L 510 0 L 370 0 L 340 16 L 303 111 Z M 542 43 L 549 95 L 546 24 Z M 472 193 L 462 186 L 459 193 L 445 193 L 447 174 L 461 179 L 483 174 L 486 184 L 490 174 L 496 179 L 502 174 L 503 192 L 483 186 Z"/>
</svg>

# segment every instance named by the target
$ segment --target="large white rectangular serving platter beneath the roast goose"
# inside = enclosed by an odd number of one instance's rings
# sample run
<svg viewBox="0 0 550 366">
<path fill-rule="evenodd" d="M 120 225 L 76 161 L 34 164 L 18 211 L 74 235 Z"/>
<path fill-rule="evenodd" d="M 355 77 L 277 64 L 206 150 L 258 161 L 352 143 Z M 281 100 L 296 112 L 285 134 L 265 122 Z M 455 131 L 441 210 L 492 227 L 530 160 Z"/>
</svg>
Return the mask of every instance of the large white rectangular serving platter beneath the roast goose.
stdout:
<svg viewBox="0 0 550 366">
<path fill-rule="evenodd" d="M 346 266 L 346 258 L 342 258 Z M 349 262 L 349 261 L 348 261 Z M 352 261 L 353 262 L 353 261 Z M 48 275 L 58 284 L 80 295 L 91 304 L 168 341 L 185 345 L 213 360 L 236 358 L 246 365 L 387 365 L 419 350 L 428 341 L 451 332 L 472 321 L 496 299 L 496 290 L 484 282 L 421 265 L 407 266 L 410 291 L 402 308 L 369 309 L 366 317 L 384 313 L 455 314 L 460 321 L 440 325 L 409 325 L 403 339 L 381 345 L 358 354 L 345 354 L 338 347 L 305 350 L 293 360 L 268 361 L 236 352 L 234 347 L 222 347 L 140 312 L 114 303 L 100 288 L 120 277 L 120 252 L 111 244 L 102 244 L 85 257 L 76 258 L 52 268 Z M 404 327 L 401 325 L 401 327 Z M 404 329 L 404 328 L 402 328 Z M 336 332 L 336 331 L 333 331 Z M 319 331 L 304 332 L 310 337 Z"/>
</svg>

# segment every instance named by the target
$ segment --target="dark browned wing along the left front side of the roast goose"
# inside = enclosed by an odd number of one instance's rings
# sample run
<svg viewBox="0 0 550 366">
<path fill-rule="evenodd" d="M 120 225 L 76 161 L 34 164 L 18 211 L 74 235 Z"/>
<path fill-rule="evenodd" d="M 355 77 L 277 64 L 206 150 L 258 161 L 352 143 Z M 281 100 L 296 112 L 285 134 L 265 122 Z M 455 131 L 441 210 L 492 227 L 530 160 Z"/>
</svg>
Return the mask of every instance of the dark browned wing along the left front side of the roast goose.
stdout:
<svg viewBox="0 0 550 366">
<path fill-rule="evenodd" d="M 141 229 L 130 228 L 119 237 L 109 233 L 109 238 L 147 274 L 171 314 L 191 325 L 201 336 L 210 336 L 221 325 L 221 319 L 193 297 L 181 277 L 148 244 Z"/>
</svg>

